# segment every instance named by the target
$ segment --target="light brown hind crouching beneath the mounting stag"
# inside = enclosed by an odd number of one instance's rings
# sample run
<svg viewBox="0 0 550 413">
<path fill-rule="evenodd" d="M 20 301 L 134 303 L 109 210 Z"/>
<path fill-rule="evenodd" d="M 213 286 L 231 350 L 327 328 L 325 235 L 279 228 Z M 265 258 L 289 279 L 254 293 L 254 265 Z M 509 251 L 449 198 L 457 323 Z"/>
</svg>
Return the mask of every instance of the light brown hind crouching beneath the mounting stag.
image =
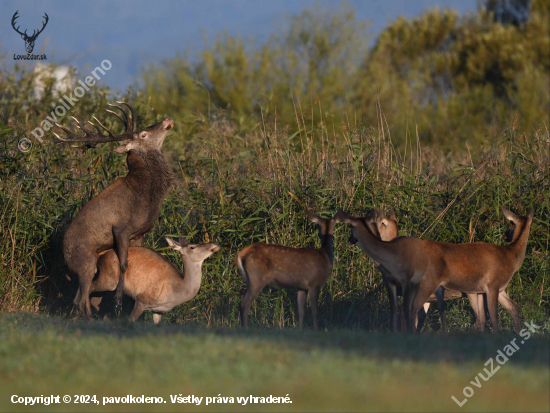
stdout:
<svg viewBox="0 0 550 413">
<path fill-rule="evenodd" d="M 153 320 L 158 324 L 162 314 L 193 299 L 201 286 L 203 261 L 220 249 L 218 244 L 188 244 L 183 238 L 179 242 L 170 238 L 166 241 L 181 253 L 184 276 L 154 250 L 143 247 L 130 247 L 128 250 L 124 293 L 135 300 L 131 321 L 137 320 L 144 310 L 151 310 Z M 114 250 L 99 257 L 98 270 L 91 292 L 114 291 L 120 276 L 120 265 Z M 99 302 L 94 300 L 96 305 Z"/>
</svg>

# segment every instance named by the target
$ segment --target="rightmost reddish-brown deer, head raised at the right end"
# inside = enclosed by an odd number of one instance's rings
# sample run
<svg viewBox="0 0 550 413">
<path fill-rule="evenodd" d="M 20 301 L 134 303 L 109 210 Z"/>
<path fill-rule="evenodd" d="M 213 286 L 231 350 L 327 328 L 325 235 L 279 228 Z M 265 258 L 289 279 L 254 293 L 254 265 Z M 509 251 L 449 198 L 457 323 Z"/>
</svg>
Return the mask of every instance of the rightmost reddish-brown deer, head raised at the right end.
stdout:
<svg viewBox="0 0 550 413">
<path fill-rule="evenodd" d="M 493 333 L 498 333 L 498 302 L 512 316 L 514 328 L 516 330 L 520 328 L 517 304 L 508 297 L 504 290 L 525 258 L 527 239 L 533 221 L 533 210 L 530 209 L 525 217 L 519 217 L 505 208 L 501 209 L 504 216 L 511 222 L 511 229 L 507 234 L 507 240 L 510 242 L 508 245 L 485 242 L 448 244 L 431 240 L 423 241 L 425 250 L 430 257 L 430 268 L 421 282 L 414 302 L 414 311 L 418 311 L 441 285 L 466 294 L 487 294 Z M 477 307 L 476 324 L 481 331 L 485 324 L 482 297 L 479 295 L 478 299 L 474 301 L 468 297 L 472 307 Z"/>
</svg>

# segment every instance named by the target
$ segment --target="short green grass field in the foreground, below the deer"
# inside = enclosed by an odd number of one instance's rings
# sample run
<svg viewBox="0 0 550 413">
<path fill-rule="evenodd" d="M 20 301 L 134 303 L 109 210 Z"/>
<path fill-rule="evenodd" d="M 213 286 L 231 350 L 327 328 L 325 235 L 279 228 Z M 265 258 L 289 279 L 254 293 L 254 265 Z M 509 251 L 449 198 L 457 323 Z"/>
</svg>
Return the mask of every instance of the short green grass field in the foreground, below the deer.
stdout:
<svg viewBox="0 0 550 413">
<path fill-rule="evenodd" d="M 0 317 L 1 411 L 548 411 L 550 338 L 532 335 L 459 408 L 484 363 L 513 338 L 335 330 L 198 328 L 146 322 Z M 519 339 L 516 340 L 519 343 Z M 496 362 L 495 362 L 496 365 Z M 96 395 L 100 405 L 25 407 L 13 394 Z M 102 406 L 103 397 L 161 396 L 165 404 Z M 170 395 L 235 398 L 172 404 Z M 237 403 L 238 396 L 292 404 Z"/>
</svg>

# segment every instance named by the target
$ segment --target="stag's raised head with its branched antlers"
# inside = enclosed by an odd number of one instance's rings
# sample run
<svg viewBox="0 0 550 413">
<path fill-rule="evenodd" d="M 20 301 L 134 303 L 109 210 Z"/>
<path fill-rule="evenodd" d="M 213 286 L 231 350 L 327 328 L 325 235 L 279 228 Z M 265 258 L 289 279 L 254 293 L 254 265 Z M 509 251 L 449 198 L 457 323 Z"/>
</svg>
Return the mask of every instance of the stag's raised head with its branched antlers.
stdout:
<svg viewBox="0 0 550 413">
<path fill-rule="evenodd" d="M 88 142 L 88 144 L 86 145 L 86 147 L 88 148 L 94 147 L 98 143 L 129 141 L 115 149 L 115 151 L 118 153 L 126 153 L 133 150 L 133 151 L 138 151 L 138 152 L 147 154 L 149 151 L 160 151 L 160 149 L 162 148 L 164 139 L 166 138 L 166 135 L 168 135 L 168 132 L 174 127 L 174 121 L 170 118 L 165 118 L 161 120 L 159 123 L 151 125 L 145 129 L 139 130 L 137 127 L 137 117 L 134 109 L 125 102 L 117 102 L 117 103 L 120 103 L 121 105 L 125 105 L 130 110 L 131 116 L 128 115 L 126 111 L 119 105 L 109 104 L 109 106 L 112 106 L 120 110 L 124 118 L 120 116 L 118 113 L 113 112 L 112 110 L 107 110 L 107 112 L 112 113 L 124 123 L 124 126 L 125 126 L 124 133 L 120 135 L 115 135 L 110 129 L 104 126 L 96 117 L 94 117 L 94 120 L 97 122 L 99 126 L 96 125 L 95 123 L 88 121 L 88 123 L 96 129 L 96 131 L 94 132 L 84 127 L 84 125 L 82 125 L 78 121 L 78 119 L 73 117 L 73 119 L 77 124 L 78 129 L 84 132 L 84 136 L 77 135 L 71 132 L 69 129 L 57 123 L 55 125 L 61 128 L 62 130 L 64 130 L 65 133 L 67 133 L 69 139 L 61 138 L 57 134 L 55 134 L 55 136 L 57 136 L 57 138 L 62 142 Z M 103 130 L 100 129 L 100 127 Z M 103 131 L 107 132 L 107 135 L 103 134 Z"/>
</svg>

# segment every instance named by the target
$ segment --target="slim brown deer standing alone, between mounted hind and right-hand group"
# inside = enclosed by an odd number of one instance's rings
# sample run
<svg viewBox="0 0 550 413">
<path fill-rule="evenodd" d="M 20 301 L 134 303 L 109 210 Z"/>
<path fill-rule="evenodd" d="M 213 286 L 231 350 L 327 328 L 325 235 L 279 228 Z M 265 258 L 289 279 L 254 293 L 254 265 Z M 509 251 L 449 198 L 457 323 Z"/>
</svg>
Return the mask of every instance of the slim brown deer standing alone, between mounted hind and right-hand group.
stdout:
<svg viewBox="0 0 550 413">
<path fill-rule="evenodd" d="M 321 288 L 330 275 L 333 253 L 332 219 L 323 219 L 306 210 L 308 218 L 317 223 L 321 248 L 291 248 L 272 244 L 252 244 L 235 256 L 235 264 L 246 283 L 241 301 L 241 324 L 248 327 L 248 311 L 252 301 L 266 286 L 298 289 L 298 326 L 304 327 L 306 298 L 309 292 L 313 329 L 318 330 L 317 308 Z"/>
</svg>

